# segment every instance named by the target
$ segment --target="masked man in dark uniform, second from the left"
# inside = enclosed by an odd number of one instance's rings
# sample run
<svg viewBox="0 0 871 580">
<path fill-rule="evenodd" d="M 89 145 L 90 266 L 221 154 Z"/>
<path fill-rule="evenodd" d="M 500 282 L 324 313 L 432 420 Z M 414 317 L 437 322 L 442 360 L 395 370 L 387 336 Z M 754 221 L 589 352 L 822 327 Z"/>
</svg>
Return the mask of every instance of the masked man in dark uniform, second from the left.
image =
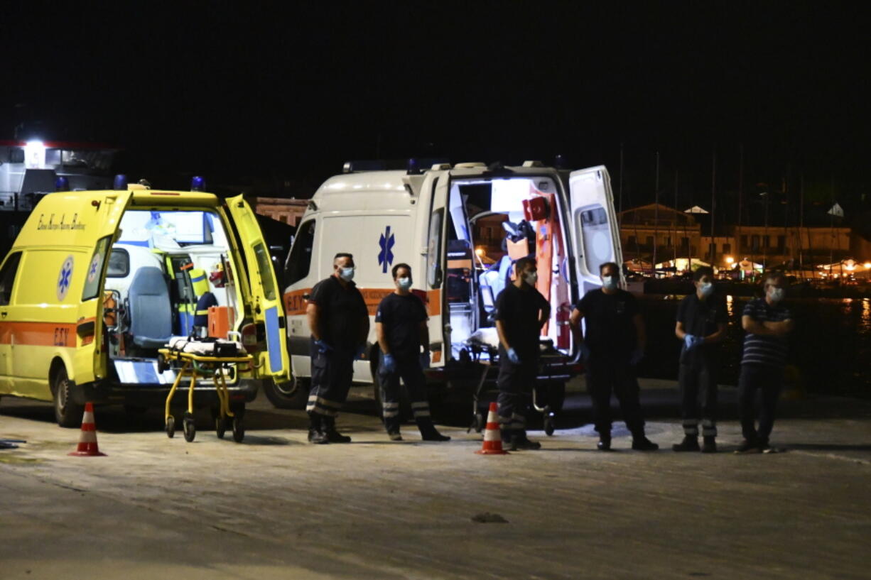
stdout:
<svg viewBox="0 0 871 580">
<path fill-rule="evenodd" d="M 429 317 L 426 307 L 420 298 L 410 292 L 411 266 L 396 264 L 392 273 L 396 289 L 381 300 L 375 314 L 375 334 L 381 347 L 378 378 L 381 382 L 384 428 L 391 441 L 402 441 L 399 430 L 399 380 L 402 378 L 423 441 L 450 441 L 450 437 L 436 430 L 429 415 L 423 378 L 423 368 L 429 368 Z"/>
</svg>

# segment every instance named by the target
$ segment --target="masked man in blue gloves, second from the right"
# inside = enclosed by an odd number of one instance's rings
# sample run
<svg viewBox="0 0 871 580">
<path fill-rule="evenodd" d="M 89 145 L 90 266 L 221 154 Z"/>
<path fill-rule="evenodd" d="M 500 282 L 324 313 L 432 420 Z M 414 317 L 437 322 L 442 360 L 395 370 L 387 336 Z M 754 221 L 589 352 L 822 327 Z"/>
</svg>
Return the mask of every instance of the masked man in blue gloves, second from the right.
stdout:
<svg viewBox="0 0 871 580">
<path fill-rule="evenodd" d="M 692 275 L 696 291 L 678 307 L 674 334 L 684 345 L 680 349 L 678 385 L 684 440 L 672 445 L 675 451 L 699 451 L 699 401 L 704 453 L 717 451 L 718 343 L 726 337 L 726 300 L 714 293 L 713 270 L 700 267 Z"/>
</svg>

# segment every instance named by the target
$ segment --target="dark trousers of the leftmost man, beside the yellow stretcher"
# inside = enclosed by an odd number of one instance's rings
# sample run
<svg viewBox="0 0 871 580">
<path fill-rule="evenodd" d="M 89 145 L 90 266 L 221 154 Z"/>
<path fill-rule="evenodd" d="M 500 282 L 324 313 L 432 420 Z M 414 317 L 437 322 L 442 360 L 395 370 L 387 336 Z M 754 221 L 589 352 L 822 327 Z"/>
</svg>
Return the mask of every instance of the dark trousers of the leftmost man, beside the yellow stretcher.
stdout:
<svg viewBox="0 0 871 580">
<path fill-rule="evenodd" d="M 312 390 L 306 405 L 308 413 L 327 417 L 339 415 L 354 378 L 355 354 L 353 350 L 339 348 L 319 353 L 312 345 Z"/>
</svg>

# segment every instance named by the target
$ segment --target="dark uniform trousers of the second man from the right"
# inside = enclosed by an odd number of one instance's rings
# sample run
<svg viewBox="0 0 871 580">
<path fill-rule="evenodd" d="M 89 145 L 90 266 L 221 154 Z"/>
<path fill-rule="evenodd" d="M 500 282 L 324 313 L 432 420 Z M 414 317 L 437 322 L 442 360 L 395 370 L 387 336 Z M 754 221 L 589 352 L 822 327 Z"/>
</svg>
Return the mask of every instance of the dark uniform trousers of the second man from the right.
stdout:
<svg viewBox="0 0 871 580">
<path fill-rule="evenodd" d="M 699 436 L 699 418 L 702 435 L 717 436 L 717 372 L 719 358 L 696 347 L 680 354 L 678 385 L 680 388 L 680 415 L 684 435 Z M 700 409 L 699 409 L 700 407 Z M 699 417 L 701 410 L 701 417 Z"/>
</svg>

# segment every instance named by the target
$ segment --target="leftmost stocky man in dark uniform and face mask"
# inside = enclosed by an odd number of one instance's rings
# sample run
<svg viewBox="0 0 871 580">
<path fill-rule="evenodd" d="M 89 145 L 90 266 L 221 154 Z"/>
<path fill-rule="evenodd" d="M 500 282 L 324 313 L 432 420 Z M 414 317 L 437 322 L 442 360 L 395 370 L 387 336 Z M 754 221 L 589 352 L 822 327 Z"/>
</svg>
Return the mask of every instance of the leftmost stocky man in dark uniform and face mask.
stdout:
<svg viewBox="0 0 871 580">
<path fill-rule="evenodd" d="M 312 390 L 308 395 L 308 441 L 348 443 L 335 418 L 354 376 L 354 359 L 366 346 L 369 314 L 354 282 L 354 256 L 337 253 L 333 275 L 312 288 L 306 314 L 311 329 Z"/>
</svg>

